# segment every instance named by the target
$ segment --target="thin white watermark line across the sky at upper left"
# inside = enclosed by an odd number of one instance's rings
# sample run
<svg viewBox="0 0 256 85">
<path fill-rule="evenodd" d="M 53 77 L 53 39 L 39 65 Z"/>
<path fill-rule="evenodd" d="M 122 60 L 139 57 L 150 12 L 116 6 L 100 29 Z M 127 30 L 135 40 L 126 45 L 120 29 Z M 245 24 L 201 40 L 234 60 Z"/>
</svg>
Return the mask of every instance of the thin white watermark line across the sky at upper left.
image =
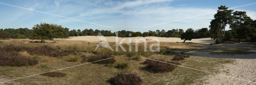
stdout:
<svg viewBox="0 0 256 85">
<path fill-rule="evenodd" d="M 4 4 L 4 3 L 0 3 L 0 4 Z M 8 6 L 14 6 L 14 5 L 10 5 L 10 4 L 4 4 L 4 5 L 8 5 Z M 19 6 L 14 6 L 14 7 L 17 7 L 17 8 L 23 8 L 23 7 L 19 7 Z M 26 9 L 26 10 L 31 10 L 31 9 L 28 9 L 28 8 L 23 8 L 23 9 Z M 31 10 L 31 11 L 40 12 L 40 13 L 44 13 L 44 14 L 50 14 L 50 13 L 41 12 L 41 11 L 37 11 L 37 10 Z M 62 17 L 62 18 L 68 18 L 68 17 L 59 16 L 59 15 L 55 15 L 55 14 L 50 14 L 50 15 L 53 15 L 53 16 L 58 16 L 58 17 Z M 71 19 L 71 20 L 76 20 L 76 21 L 80 21 L 80 22 L 86 22 L 86 21 L 77 20 L 77 19 L 73 19 L 73 18 L 68 18 L 68 19 Z M 95 24 L 95 23 L 92 23 L 92 22 L 86 22 L 86 23 Z M 98 25 L 98 26 L 104 26 L 104 25 L 100 25 L 100 24 L 95 24 L 95 25 Z M 107 27 L 107 28 L 112 28 L 112 27 L 109 27 L 109 26 L 104 26 L 104 27 Z"/>
</svg>

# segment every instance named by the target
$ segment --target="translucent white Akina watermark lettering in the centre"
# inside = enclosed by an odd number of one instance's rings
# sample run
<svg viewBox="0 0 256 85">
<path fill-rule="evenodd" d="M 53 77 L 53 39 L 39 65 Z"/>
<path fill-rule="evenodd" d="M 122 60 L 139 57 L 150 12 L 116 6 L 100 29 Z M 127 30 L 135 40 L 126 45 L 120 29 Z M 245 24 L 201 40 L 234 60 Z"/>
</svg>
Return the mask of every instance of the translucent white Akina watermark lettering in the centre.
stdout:
<svg viewBox="0 0 256 85">
<path fill-rule="evenodd" d="M 131 37 L 132 34 L 129 34 L 129 36 Z M 98 49 L 98 47 L 105 47 L 105 48 L 108 48 L 112 51 L 114 51 L 114 49 L 112 49 L 112 47 L 110 46 L 110 44 L 107 42 L 107 39 L 101 34 L 101 33 L 98 33 L 98 37 L 100 39 L 100 42 L 98 42 L 97 46 L 96 46 L 96 49 L 94 51 L 96 51 Z M 129 51 L 131 52 L 132 51 L 132 44 L 133 44 L 133 41 L 132 41 L 132 38 L 128 37 L 128 44 L 129 44 Z M 126 52 L 126 49 L 124 48 L 124 46 L 122 45 L 122 43 L 124 43 L 124 41 L 126 40 L 127 38 L 122 38 L 121 41 L 118 40 L 118 32 L 116 33 L 116 52 L 118 52 L 118 47 L 120 47 L 122 49 L 122 51 Z M 156 52 L 156 51 L 160 51 L 160 41 L 157 39 L 157 38 L 152 38 L 150 39 L 150 41 L 154 41 L 154 42 L 157 42 L 157 43 L 154 43 L 154 44 L 151 44 L 150 47 L 149 47 L 149 50 L 152 51 L 152 52 Z M 138 43 L 144 43 L 144 51 L 146 52 L 147 51 L 147 40 L 144 39 L 144 38 L 135 38 L 135 51 L 138 52 Z M 153 47 L 156 46 L 156 49 L 153 49 Z"/>
</svg>

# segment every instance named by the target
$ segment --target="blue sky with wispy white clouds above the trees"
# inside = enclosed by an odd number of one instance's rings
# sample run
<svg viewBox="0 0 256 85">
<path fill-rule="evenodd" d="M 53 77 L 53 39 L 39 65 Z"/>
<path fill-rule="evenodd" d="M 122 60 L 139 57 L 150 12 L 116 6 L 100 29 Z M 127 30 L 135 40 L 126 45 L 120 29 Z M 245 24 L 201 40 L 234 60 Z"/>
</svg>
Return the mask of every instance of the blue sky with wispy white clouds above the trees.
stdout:
<svg viewBox="0 0 256 85">
<path fill-rule="evenodd" d="M 68 18 L 110 26 L 107 28 L 40 12 L 0 4 L 0 28 L 29 28 L 40 22 L 53 23 L 72 29 L 171 30 L 208 28 L 218 6 L 229 8 L 255 3 L 256 0 L 0 0 L 0 3 L 20 6 Z M 246 11 L 256 20 L 256 4 L 235 8 Z M 179 20 L 191 16 L 194 18 Z M 158 26 L 152 26 L 170 22 Z M 152 26 L 149 28 L 143 28 Z"/>
</svg>

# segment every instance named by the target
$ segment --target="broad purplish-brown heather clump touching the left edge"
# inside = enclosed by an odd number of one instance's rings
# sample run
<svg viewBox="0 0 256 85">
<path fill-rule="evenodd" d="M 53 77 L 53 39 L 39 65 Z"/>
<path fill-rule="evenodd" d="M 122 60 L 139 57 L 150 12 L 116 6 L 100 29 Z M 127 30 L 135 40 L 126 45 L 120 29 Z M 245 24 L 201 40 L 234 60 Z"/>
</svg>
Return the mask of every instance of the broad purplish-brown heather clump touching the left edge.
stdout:
<svg viewBox="0 0 256 85">
<path fill-rule="evenodd" d="M 36 65 L 38 60 L 20 55 L 17 52 L 8 53 L 6 51 L 0 51 L 0 66 L 26 66 Z"/>
</svg>

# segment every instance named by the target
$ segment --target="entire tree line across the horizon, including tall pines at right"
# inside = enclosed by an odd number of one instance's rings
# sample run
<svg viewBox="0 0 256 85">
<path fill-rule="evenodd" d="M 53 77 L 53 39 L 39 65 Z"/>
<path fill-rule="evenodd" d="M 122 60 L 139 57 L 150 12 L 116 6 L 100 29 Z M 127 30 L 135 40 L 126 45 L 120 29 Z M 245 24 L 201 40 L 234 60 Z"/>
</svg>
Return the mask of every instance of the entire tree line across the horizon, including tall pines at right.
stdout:
<svg viewBox="0 0 256 85">
<path fill-rule="evenodd" d="M 226 26 L 229 25 L 231 30 L 226 30 Z M 111 32 L 111 30 L 69 30 L 69 28 L 63 28 L 57 24 L 40 23 L 34 25 L 32 30 L 28 28 L 8 28 L 0 29 L 0 38 L 14 38 L 22 39 L 29 38 L 31 40 L 53 40 L 54 38 L 68 38 L 69 36 L 97 36 L 100 32 L 103 36 L 116 36 L 118 37 L 174 37 L 184 40 L 192 40 L 195 38 L 212 38 L 216 43 L 223 43 L 232 38 L 240 40 L 247 40 L 250 42 L 256 41 L 256 20 L 252 20 L 246 15 L 246 12 L 228 10 L 226 6 L 218 7 L 217 13 L 214 14 L 214 19 L 210 22 L 208 28 L 201 28 L 193 30 L 188 28 L 185 32 L 182 29 L 172 30 L 156 30 L 148 32 L 132 32 L 121 30 L 118 32 Z M 132 34 L 132 36 L 129 36 Z"/>
</svg>

